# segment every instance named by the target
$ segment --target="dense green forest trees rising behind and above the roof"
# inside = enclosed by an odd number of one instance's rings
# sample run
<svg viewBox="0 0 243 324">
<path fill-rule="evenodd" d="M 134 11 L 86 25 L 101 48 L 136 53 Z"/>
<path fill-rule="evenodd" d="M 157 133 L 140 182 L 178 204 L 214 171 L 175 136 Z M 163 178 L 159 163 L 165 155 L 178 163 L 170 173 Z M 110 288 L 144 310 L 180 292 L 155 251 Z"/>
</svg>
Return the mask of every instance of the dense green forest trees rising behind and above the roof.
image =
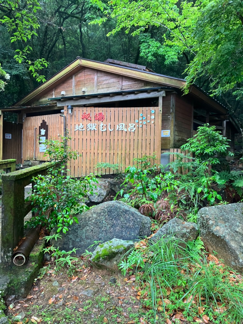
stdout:
<svg viewBox="0 0 243 324">
<path fill-rule="evenodd" d="M 243 120 L 242 39 L 242 0 L 2 0 L 1 106 L 81 56 L 186 78 Z"/>
</svg>

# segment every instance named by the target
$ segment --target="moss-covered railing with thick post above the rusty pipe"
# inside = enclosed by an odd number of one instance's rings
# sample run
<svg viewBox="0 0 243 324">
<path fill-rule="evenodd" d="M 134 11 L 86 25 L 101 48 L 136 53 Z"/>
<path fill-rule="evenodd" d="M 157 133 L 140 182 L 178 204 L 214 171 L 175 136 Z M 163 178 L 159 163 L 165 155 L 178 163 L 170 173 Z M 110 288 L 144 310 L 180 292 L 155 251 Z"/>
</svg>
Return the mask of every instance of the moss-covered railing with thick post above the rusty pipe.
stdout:
<svg viewBox="0 0 243 324">
<path fill-rule="evenodd" d="M 2 262 L 11 261 L 13 249 L 24 235 L 24 217 L 32 208 L 25 202 L 25 186 L 32 183 L 32 177 L 46 175 L 50 165 L 46 162 L 2 175 Z"/>
</svg>

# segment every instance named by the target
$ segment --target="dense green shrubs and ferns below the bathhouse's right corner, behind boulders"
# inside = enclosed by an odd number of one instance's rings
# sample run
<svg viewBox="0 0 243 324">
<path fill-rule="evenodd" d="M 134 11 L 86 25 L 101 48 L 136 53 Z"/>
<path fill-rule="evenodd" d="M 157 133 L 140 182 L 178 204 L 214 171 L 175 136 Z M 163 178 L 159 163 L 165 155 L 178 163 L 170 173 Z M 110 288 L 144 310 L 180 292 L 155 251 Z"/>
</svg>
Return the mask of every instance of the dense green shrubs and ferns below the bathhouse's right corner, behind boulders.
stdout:
<svg viewBox="0 0 243 324">
<path fill-rule="evenodd" d="M 242 196 L 241 173 L 214 169 L 219 163 L 217 154 L 232 155 L 228 148 L 228 140 L 214 126 L 205 124 L 181 147 L 188 154 L 176 153 L 169 170 L 153 165 L 155 156 L 136 159 L 133 166 L 127 167 L 125 188 L 119 193 L 121 200 L 160 222 L 175 216 L 196 222 L 200 208 L 223 203 L 218 191 L 227 188 L 232 200 L 237 194 Z"/>
</svg>

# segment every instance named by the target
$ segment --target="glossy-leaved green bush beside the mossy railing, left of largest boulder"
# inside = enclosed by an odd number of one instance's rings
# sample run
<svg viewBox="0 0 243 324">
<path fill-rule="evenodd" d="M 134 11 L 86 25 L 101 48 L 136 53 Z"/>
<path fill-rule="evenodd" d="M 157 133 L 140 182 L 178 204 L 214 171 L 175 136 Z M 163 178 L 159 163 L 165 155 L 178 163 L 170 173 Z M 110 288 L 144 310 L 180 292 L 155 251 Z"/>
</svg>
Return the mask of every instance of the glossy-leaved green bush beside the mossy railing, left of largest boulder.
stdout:
<svg viewBox="0 0 243 324">
<path fill-rule="evenodd" d="M 35 216 L 27 222 L 27 226 L 38 224 L 48 226 L 49 229 L 57 225 L 57 232 L 66 233 L 68 226 L 75 221 L 75 214 L 82 213 L 88 207 L 84 204 L 87 193 L 93 193 L 97 183 L 96 177 L 91 174 L 77 180 L 66 175 L 66 163 L 77 158 L 77 152 L 73 151 L 67 141 L 70 137 L 64 137 L 63 141 L 46 140 L 46 152 L 49 156 L 51 167 L 47 170 L 47 176 L 33 178 L 35 183 L 33 193 L 27 198 L 34 206 L 32 211 Z"/>
</svg>

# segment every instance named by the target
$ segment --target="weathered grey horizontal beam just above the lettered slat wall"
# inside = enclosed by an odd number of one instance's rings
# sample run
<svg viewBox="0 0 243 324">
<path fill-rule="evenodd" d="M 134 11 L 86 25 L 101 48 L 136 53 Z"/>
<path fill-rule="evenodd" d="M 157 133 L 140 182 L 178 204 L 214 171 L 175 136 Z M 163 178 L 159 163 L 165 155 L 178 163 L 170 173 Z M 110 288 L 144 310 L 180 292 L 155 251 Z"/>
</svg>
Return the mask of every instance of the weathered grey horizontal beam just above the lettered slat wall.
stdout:
<svg viewBox="0 0 243 324">
<path fill-rule="evenodd" d="M 97 97 L 97 98 L 82 98 L 78 100 L 66 100 L 64 101 L 57 101 L 57 107 L 63 107 L 64 105 L 69 106 L 83 106 L 88 104 L 101 104 L 111 101 L 123 101 L 123 100 L 134 100 L 134 99 L 144 99 L 144 98 L 156 98 L 156 97 L 165 97 L 165 91 L 154 91 L 154 92 L 142 92 L 137 94 L 125 94 L 125 95 L 118 95 L 114 97 Z"/>
</svg>

